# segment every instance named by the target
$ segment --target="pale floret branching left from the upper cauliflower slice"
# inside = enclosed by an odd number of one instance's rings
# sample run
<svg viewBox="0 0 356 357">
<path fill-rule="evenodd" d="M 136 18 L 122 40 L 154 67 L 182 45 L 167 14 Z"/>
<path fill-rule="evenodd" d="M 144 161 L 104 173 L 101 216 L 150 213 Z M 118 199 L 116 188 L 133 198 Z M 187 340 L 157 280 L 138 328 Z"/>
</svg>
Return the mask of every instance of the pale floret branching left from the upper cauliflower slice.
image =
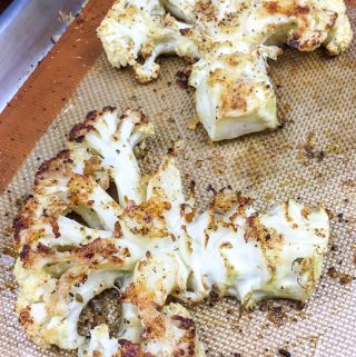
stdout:
<svg viewBox="0 0 356 357">
<path fill-rule="evenodd" d="M 118 1 L 98 29 L 110 63 L 117 68 L 134 66 L 140 82 L 159 75 L 156 58 L 162 53 L 196 56 L 196 49 L 180 30 L 188 28 L 166 13 L 157 0 Z M 181 49 L 180 49 L 181 48 Z M 139 63 L 141 56 L 145 61 Z"/>
</svg>

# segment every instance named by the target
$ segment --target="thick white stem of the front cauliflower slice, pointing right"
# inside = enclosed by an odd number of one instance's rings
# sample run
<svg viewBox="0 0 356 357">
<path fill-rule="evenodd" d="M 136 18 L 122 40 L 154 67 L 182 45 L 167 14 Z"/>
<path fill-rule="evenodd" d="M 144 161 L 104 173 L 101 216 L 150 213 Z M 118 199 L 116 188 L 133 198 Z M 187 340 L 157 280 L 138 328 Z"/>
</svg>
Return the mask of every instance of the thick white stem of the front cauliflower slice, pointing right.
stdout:
<svg viewBox="0 0 356 357">
<path fill-rule="evenodd" d="M 273 297 L 305 301 L 320 276 L 329 231 L 323 209 L 290 200 L 259 214 L 244 198 L 236 198 L 236 206 L 222 216 L 212 206 L 187 226 L 187 235 L 192 248 L 186 259 L 192 262 L 198 299 L 216 288 L 220 296 L 236 296 L 253 307 Z M 205 241 L 195 240 L 201 235 Z M 195 254 L 201 256 L 194 258 Z"/>
</svg>

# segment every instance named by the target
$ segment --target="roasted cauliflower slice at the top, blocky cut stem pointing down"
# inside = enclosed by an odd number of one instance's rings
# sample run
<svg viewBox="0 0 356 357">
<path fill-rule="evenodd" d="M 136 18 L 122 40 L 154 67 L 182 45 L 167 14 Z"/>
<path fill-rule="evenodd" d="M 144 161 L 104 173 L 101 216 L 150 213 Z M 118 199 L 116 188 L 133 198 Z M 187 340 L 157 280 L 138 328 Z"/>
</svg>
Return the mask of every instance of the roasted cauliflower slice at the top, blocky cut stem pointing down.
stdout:
<svg viewBox="0 0 356 357">
<path fill-rule="evenodd" d="M 156 79 L 161 53 L 197 60 L 198 119 L 212 140 L 276 128 L 267 59 L 287 43 L 339 54 L 353 33 L 343 0 L 118 0 L 98 29 L 108 60 Z"/>
</svg>

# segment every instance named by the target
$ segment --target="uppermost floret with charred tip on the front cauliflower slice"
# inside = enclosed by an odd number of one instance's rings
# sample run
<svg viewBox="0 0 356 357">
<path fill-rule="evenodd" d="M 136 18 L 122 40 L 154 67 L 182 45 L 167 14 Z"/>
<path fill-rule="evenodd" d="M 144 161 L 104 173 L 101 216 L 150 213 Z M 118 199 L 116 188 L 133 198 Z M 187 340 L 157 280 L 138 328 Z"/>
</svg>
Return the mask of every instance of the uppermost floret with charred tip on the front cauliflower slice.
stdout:
<svg viewBox="0 0 356 357">
<path fill-rule="evenodd" d="M 152 133 L 152 126 L 139 110 L 128 110 L 118 122 L 115 108 L 107 107 L 102 112 L 88 113 L 85 122 L 71 130 L 69 138 L 76 142 L 72 151 L 85 147 L 99 156 L 101 170 L 107 170 L 113 179 L 119 204 L 125 207 L 128 198 L 137 204 L 144 199 L 145 187 L 140 181 L 134 148 Z M 83 168 L 76 170 L 82 173 Z M 130 179 L 127 180 L 127 177 Z"/>
</svg>

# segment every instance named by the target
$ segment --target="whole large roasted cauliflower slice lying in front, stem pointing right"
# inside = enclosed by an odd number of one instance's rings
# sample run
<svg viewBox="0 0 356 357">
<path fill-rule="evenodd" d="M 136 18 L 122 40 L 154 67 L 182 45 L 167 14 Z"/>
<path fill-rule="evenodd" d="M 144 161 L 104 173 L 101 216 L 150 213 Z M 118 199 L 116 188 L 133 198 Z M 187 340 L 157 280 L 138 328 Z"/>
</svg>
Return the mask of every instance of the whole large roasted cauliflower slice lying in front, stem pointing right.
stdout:
<svg viewBox="0 0 356 357">
<path fill-rule="evenodd" d="M 328 244 L 326 211 L 290 200 L 258 212 L 221 190 L 197 214 L 174 150 L 147 185 L 141 178 L 134 149 L 152 133 L 140 111 L 118 117 L 107 107 L 88 113 L 68 149 L 40 167 L 13 225 L 17 313 L 37 344 L 86 357 L 204 356 L 189 313 L 169 296 L 188 305 L 234 296 L 246 308 L 310 297 Z M 107 325 L 81 336 L 81 311 L 113 287 L 119 338 Z"/>
</svg>

